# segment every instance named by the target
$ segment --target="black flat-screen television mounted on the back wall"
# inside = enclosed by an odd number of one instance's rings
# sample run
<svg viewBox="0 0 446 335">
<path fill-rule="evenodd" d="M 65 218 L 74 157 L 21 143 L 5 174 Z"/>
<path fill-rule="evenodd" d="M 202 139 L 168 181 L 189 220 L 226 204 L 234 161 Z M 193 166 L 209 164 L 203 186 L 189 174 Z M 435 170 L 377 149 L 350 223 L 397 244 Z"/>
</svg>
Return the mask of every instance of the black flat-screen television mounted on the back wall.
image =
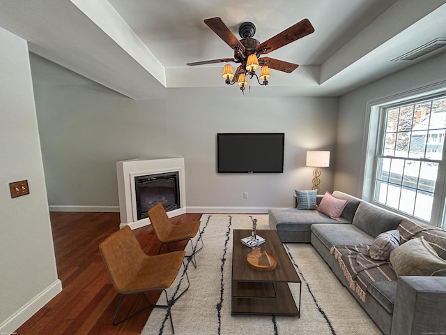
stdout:
<svg viewBox="0 0 446 335">
<path fill-rule="evenodd" d="M 219 173 L 283 173 L 284 133 L 218 133 Z"/>
</svg>

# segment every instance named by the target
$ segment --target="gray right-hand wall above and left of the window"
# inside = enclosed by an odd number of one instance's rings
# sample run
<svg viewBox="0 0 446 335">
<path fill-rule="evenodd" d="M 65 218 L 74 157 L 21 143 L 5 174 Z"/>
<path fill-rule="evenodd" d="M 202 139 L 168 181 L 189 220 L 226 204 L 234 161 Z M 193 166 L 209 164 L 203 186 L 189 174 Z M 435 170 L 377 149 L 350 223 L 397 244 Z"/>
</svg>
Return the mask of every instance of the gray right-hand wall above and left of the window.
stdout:
<svg viewBox="0 0 446 335">
<path fill-rule="evenodd" d="M 438 87 L 446 89 L 445 64 L 446 52 L 443 52 L 341 96 L 334 189 L 362 198 L 369 118 L 367 104 L 413 96 Z"/>
</svg>

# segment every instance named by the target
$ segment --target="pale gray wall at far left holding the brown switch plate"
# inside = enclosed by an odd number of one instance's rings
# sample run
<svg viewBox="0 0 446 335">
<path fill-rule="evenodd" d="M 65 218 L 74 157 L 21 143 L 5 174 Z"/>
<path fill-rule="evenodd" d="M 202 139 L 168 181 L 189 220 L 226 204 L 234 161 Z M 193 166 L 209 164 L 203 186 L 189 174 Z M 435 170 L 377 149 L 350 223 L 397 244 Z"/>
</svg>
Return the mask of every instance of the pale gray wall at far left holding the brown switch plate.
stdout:
<svg viewBox="0 0 446 335">
<path fill-rule="evenodd" d="M 0 27 L 0 332 L 12 334 L 61 290 L 26 41 Z M 8 184 L 27 179 L 29 195 Z"/>
</svg>

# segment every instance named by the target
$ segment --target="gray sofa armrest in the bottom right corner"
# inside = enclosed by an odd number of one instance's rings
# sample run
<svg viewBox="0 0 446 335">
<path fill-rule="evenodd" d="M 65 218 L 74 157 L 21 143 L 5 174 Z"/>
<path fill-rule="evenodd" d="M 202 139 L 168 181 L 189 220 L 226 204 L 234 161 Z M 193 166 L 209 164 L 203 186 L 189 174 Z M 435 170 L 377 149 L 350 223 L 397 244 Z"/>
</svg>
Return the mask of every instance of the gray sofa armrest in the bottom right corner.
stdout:
<svg viewBox="0 0 446 335">
<path fill-rule="evenodd" d="M 446 277 L 401 276 L 392 335 L 446 334 Z"/>
</svg>

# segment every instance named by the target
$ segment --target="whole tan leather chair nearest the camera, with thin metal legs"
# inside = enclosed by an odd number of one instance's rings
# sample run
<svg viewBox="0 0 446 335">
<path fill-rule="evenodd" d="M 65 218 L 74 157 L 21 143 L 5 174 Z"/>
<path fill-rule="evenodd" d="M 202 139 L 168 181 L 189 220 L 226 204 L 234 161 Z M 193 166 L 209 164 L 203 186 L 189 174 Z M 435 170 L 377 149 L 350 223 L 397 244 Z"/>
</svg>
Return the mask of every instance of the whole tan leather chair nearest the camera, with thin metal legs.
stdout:
<svg viewBox="0 0 446 335">
<path fill-rule="evenodd" d="M 185 288 L 180 295 L 171 300 L 167 297 L 166 289 L 174 283 L 181 265 L 184 266 L 183 260 L 185 251 L 174 251 L 172 253 L 148 256 L 142 250 L 137 238 L 134 237 L 129 226 L 126 226 L 107 237 L 107 239 L 102 241 L 99 245 L 99 250 L 114 288 L 121 293 L 118 306 L 114 313 L 113 325 L 119 325 L 121 322 L 132 318 L 134 315 L 141 313 L 149 307 L 159 307 L 167 308 L 173 330 L 174 322 L 172 321 L 170 308 L 189 288 L 190 282 L 187 277 L 186 269 L 184 269 L 184 274 L 187 278 L 187 288 Z M 145 292 L 153 290 L 164 291 L 167 300 L 166 305 L 151 304 L 151 301 L 148 300 Z M 127 318 L 116 322 L 116 315 L 123 297 L 134 293 L 142 293 L 148 302 L 148 306 Z"/>
</svg>

